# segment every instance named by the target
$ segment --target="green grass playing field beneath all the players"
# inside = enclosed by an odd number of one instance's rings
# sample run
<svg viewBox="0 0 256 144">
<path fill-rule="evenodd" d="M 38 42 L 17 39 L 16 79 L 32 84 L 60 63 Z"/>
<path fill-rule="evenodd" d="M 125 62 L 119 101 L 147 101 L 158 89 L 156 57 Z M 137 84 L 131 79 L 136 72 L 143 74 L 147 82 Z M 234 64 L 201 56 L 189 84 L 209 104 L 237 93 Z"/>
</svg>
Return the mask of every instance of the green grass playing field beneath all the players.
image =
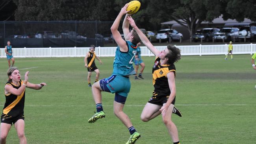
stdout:
<svg viewBox="0 0 256 144">
<path fill-rule="evenodd" d="M 176 64 L 176 106 L 183 117 L 173 115 L 182 144 L 240 144 L 256 142 L 256 72 L 251 55 L 183 56 Z M 229 57 L 230 58 L 230 57 Z M 111 75 L 113 57 L 96 61 L 100 78 Z M 46 82 L 41 90 L 26 89 L 25 122 L 29 144 L 125 144 L 130 133 L 113 114 L 114 94 L 103 93 L 106 118 L 89 124 L 95 103 L 87 87 L 87 70 L 79 58 L 16 58 L 22 79 L 30 71 L 31 83 Z M 149 100 L 154 57 L 143 57 L 144 80 L 131 76 L 131 91 L 124 112 L 141 138 L 136 144 L 172 144 L 161 116 L 150 122 L 140 120 Z M 7 61 L 0 59 L 0 106 L 5 103 Z M 24 69 L 28 68 L 28 69 Z M 22 70 L 23 69 L 23 70 Z M 95 74 L 92 75 L 92 81 Z M 7 143 L 18 144 L 12 127 Z"/>
</svg>

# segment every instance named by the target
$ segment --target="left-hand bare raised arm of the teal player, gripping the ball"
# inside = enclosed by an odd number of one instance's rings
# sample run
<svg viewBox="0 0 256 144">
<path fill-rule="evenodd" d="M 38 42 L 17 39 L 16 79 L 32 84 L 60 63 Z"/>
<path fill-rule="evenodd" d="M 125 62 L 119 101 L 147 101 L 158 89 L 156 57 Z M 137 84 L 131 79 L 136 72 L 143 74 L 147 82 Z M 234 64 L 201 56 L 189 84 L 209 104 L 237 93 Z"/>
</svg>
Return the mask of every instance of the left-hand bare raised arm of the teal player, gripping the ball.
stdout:
<svg viewBox="0 0 256 144">
<path fill-rule="evenodd" d="M 119 27 L 119 23 L 120 23 L 122 16 L 128 12 L 128 11 L 126 11 L 127 7 L 128 7 L 128 4 L 126 4 L 124 7 L 122 7 L 120 13 L 118 14 L 117 18 L 115 19 L 113 25 L 110 28 L 113 38 L 115 39 L 115 42 L 117 42 L 117 44 L 119 45 L 120 50 L 122 52 L 127 52 L 128 47 L 126 45 L 126 41 L 124 41 L 122 39 L 122 36 L 118 31 L 118 27 Z"/>
</svg>

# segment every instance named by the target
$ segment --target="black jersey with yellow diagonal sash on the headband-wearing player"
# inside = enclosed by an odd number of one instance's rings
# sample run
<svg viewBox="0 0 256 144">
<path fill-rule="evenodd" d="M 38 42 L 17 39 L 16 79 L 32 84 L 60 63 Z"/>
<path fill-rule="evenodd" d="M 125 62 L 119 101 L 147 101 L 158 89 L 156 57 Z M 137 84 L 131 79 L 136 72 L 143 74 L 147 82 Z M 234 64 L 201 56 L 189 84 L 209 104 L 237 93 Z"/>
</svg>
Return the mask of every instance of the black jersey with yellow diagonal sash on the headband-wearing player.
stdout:
<svg viewBox="0 0 256 144">
<path fill-rule="evenodd" d="M 15 89 L 19 89 L 23 81 L 20 80 L 19 85 L 14 85 L 11 82 L 7 82 L 6 85 L 11 85 Z M 6 103 L 4 104 L 3 113 L 8 116 L 20 116 L 24 113 L 24 103 L 25 103 L 25 90 L 20 95 L 7 94 Z"/>
</svg>

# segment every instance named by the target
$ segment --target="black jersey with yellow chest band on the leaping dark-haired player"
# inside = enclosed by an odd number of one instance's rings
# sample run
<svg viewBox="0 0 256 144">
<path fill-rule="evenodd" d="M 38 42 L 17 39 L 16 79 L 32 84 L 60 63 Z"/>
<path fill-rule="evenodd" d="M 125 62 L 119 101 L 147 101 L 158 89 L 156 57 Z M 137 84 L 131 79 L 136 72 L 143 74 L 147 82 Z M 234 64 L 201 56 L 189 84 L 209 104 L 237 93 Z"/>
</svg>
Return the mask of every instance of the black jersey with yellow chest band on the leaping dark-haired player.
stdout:
<svg viewBox="0 0 256 144">
<path fill-rule="evenodd" d="M 174 72 L 176 75 L 175 65 L 161 65 L 160 58 L 157 57 L 152 69 L 153 85 L 155 96 L 169 96 L 171 90 L 169 88 L 167 73 Z"/>
</svg>

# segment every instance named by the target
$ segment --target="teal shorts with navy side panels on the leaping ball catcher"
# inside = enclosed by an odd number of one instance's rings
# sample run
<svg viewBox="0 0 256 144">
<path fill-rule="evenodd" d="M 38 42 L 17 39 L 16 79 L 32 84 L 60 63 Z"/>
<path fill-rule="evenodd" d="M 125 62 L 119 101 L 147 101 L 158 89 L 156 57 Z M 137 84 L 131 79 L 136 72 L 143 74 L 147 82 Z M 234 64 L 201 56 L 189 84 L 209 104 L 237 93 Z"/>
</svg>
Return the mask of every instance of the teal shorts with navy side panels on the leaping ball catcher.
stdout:
<svg viewBox="0 0 256 144">
<path fill-rule="evenodd" d="M 112 75 L 108 78 L 101 79 L 100 87 L 103 91 L 127 97 L 131 89 L 131 82 L 129 77 Z"/>
</svg>

